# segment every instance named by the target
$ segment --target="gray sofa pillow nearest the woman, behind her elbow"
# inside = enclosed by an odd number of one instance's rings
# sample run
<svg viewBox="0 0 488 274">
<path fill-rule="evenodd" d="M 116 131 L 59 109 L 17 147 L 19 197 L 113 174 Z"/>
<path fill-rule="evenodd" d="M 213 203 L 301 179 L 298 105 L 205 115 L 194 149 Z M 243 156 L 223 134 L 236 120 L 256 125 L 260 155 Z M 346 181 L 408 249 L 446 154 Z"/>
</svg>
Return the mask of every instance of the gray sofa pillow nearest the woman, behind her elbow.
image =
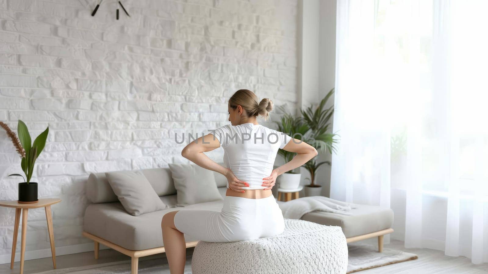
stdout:
<svg viewBox="0 0 488 274">
<path fill-rule="evenodd" d="M 169 169 L 175 183 L 176 206 L 224 199 L 217 189 L 212 170 L 187 164 L 169 164 Z"/>
</svg>

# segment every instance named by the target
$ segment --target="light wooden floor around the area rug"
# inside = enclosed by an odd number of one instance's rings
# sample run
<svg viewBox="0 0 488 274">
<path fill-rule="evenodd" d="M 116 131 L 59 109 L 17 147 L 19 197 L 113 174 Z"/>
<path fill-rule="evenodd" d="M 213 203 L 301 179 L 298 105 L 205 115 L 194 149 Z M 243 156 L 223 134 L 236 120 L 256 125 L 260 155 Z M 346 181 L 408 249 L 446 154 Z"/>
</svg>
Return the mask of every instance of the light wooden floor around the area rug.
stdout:
<svg viewBox="0 0 488 274">
<path fill-rule="evenodd" d="M 431 249 L 405 249 L 403 242 L 392 240 L 389 244 L 385 244 L 385 248 L 403 250 L 409 253 L 418 255 L 418 259 L 413 261 L 402 262 L 398 264 L 387 265 L 379 268 L 373 268 L 358 272 L 359 274 L 488 274 L 488 264 L 475 265 L 471 263 L 471 259 L 466 257 L 450 257 L 444 255 L 443 251 Z M 192 252 L 189 248 L 187 254 Z M 162 258 L 162 263 L 166 261 L 165 254 L 155 254 L 144 257 L 144 259 Z M 112 249 L 104 249 L 100 251 L 100 258 L 95 260 L 92 252 L 84 252 L 77 254 L 61 255 L 56 257 L 58 269 L 84 266 L 91 264 L 107 263 L 112 261 L 122 261 L 130 259 Z M 39 273 L 43 271 L 52 270 L 51 258 L 42 258 L 35 260 L 27 260 L 24 263 L 24 274 Z M 14 264 L 14 269 L 10 269 L 10 263 L 0 265 L 0 274 L 18 274 L 19 262 Z"/>
</svg>

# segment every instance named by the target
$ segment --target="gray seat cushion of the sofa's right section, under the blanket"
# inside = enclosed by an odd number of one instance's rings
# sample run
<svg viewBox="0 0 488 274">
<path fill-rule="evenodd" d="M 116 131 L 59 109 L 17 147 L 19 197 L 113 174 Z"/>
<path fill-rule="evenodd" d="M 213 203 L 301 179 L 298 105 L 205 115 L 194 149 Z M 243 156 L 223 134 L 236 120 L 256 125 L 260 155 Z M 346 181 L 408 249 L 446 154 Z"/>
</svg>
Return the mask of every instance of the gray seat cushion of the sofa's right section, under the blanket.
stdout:
<svg viewBox="0 0 488 274">
<path fill-rule="evenodd" d="M 340 226 L 346 238 L 388 229 L 393 225 L 393 210 L 377 206 L 354 205 L 356 208 L 351 209 L 352 215 L 312 211 L 303 215 L 302 220 L 327 226 Z"/>
</svg>

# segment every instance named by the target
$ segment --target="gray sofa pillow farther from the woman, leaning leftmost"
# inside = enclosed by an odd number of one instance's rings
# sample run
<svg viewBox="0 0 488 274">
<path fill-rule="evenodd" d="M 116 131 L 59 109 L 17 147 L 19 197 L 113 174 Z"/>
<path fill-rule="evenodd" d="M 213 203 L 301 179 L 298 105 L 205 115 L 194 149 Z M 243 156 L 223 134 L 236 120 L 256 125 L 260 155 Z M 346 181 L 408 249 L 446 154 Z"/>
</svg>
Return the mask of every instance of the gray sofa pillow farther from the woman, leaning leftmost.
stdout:
<svg viewBox="0 0 488 274">
<path fill-rule="evenodd" d="M 168 208 L 141 171 L 112 171 L 105 176 L 129 214 L 138 216 Z"/>
</svg>

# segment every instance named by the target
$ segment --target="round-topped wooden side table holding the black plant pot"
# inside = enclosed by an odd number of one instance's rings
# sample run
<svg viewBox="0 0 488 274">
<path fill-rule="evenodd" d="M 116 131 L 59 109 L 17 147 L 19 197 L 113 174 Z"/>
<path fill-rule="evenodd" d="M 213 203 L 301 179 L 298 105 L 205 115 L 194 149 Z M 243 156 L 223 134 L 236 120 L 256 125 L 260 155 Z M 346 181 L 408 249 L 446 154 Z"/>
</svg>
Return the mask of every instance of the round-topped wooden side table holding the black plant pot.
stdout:
<svg viewBox="0 0 488 274">
<path fill-rule="evenodd" d="M 53 217 L 51 215 L 51 205 L 61 202 L 58 198 L 39 199 L 39 202 L 32 204 L 22 204 L 15 201 L 0 201 L 0 207 L 15 208 L 14 240 L 12 243 L 12 260 L 10 269 L 14 269 L 15 249 L 17 245 L 17 234 L 19 232 L 20 210 L 22 210 L 22 237 L 20 238 L 20 274 L 24 272 L 24 253 L 25 253 L 25 232 L 27 231 L 27 211 L 29 209 L 44 207 L 46 211 L 47 231 L 51 242 L 51 254 L 53 256 L 53 266 L 56 269 L 56 248 L 54 246 Z"/>
</svg>

